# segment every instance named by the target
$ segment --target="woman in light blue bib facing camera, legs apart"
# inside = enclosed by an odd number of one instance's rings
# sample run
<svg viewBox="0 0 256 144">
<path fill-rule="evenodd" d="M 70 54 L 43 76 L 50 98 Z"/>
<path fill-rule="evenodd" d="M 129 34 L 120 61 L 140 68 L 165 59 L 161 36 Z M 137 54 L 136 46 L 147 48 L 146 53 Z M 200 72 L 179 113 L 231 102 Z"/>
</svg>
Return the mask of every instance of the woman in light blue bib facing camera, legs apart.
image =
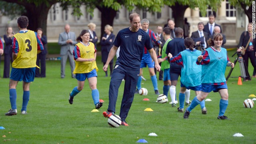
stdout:
<svg viewBox="0 0 256 144">
<path fill-rule="evenodd" d="M 190 106 L 184 112 L 184 118 L 188 118 L 190 112 L 204 100 L 208 94 L 219 92 L 220 94 L 220 111 L 218 114 L 219 120 L 230 120 L 224 116 L 228 107 L 228 86 L 225 78 L 226 66 L 234 68 L 234 63 L 230 62 L 228 53 L 225 48 L 222 48 L 223 37 L 222 34 L 214 34 L 213 39 L 209 39 L 207 48 L 202 55 L 198 56 L 196 64 L 202 65 L 202 91 L 199 95 L 194 97 Z"/>
</svg>

